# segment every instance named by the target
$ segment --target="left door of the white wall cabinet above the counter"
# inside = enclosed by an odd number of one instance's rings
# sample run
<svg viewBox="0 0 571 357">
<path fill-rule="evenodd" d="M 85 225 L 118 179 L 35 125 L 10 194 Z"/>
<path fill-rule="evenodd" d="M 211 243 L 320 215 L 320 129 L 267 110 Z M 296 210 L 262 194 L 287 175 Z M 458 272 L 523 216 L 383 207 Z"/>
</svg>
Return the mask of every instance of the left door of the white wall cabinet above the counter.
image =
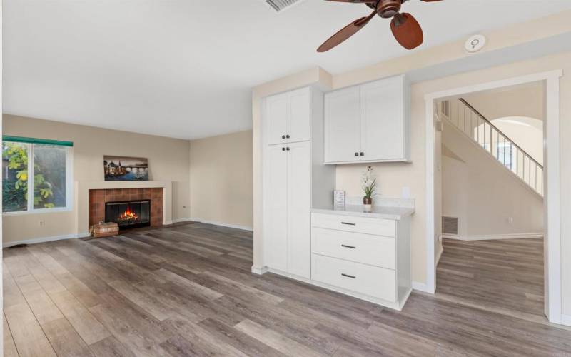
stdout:
<svg viewBox="0 0 571 357">
<path fill-rule="evenodd" d="M 359 87 L 325 94 L 325 162 L 359 161 Z"/>
</svg>

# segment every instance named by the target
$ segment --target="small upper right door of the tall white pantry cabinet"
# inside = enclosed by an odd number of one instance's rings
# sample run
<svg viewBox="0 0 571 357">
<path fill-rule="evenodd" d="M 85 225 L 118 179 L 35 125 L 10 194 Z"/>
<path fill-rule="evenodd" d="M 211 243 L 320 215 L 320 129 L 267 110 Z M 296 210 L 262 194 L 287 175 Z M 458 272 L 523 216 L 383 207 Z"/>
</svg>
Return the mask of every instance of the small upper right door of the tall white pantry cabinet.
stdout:
<svg viewBox="0 0 571 357">
<path fill-rule="evenodd" d="M 289 92 L 288 142 L 307 141 L 310 138 L 310 89 Z"/>
</svg>

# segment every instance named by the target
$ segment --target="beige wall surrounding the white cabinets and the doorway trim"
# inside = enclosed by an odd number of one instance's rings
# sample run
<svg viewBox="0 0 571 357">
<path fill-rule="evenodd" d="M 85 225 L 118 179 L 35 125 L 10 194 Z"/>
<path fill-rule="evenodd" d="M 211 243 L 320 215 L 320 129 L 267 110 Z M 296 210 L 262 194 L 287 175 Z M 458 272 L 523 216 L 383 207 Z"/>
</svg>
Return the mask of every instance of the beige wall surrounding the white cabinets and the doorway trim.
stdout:
<svg viewBox="0 0 571 357">
<path fill-rule="evenodd" d="M 482 53 L 497 49 L 515 46 L 528 41 L 535 41 L 547 36 L 568 33 L 571 31 L 571 23 L 568 21 L 571 11 L 565 11 L 549 19 L 537 19 L 525 24 L 508 26 L 485 33 L 488 45 Z M 395 74 L 402 74 L 414 69 L 420 69 L 434 64 L 443 64 L 468 57 L 462 51 L 463 40 L 453 43 L 435 46 L 425 51 L 418 51 L 409 56 L 393 59 L 373 66 L 350 71 L 344 74 L 330 76 L 326 82 L 333 84 L 333 89 L 343 86 L 359 84 L 365 81 L 383 78 Z M 380 174 L 379 184 L 381 193 L 385 196 L 399 196 L 402 187 L 411 188 L 413 196 L 417 199 L 417 211 L 412 219 L 412 249 L 413 249 L 413 281 L 424 283 L 426 280 L 426 237 L 425 237 L 425 101 L 424 95 L 435 91 L 454 89 L 473 84 L 479 84 L 499 79 L 508 79 L 514 76 L 522 76 L 551 69 L 563 69 L 565 73 L 571 71 L 571 53 L 555 54 L 547 57 L 515 62 L 489 69 L 468 71 L 455 76 L 447 76 L 441 79 L 423 81 L 413 84 L 412 87 L 412 164 L 386 164 L 378 165 Z M 318 76 L 295 74 L 285 79 L 271 81 L 268 84 L 256 87 L 253 91 L 253 168 L 254 168 L 254 266 L 263 265 L 263 241 L 261 239 L 261 225 L 263 212 L 261 210 L 261 159 L 260 159 L 260 104 L 264 96 L 278 91 L 286 91 L 308 84 L 323 84 Z M 313 71 L 312 73 L 315 73 Z M 323 75 L 327 77 L 327 75 Z M 313 81 L 312 81 L 313 80 Z M 566 75 L 561 80 L 561 98 L 571 97 L 571 76 Z M 571 101 L 563 100 L 561 104 L 561 133 L 562 136 L 571 135 Z M 571 180 L 571 160 L 568 154 L 571 152 L 571 141 L 562 140 L 562 254 L 571 256 L 571 220 L 565 217 L 571 216 L 571 185 L 565 184 Z M 363 166 L 340 166 L 338 169 L 338 186 L 349 187 L 350 192 L 356 190 L 354 180 L 356 173 L 363 170 Z M 349 193 L 351 194 L 351 193 Z M 571 314 L 571 260 L 562 260 L 562 291 L 564 296 L 564 313 Z"/>
</svg>

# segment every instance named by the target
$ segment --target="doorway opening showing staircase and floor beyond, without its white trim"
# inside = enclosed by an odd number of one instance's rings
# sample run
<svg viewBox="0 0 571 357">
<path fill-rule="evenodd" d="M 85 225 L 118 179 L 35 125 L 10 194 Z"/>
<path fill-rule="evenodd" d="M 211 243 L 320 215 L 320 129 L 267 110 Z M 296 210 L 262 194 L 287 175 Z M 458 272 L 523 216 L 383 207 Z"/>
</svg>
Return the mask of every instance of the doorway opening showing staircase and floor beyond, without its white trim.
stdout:
<svg viewBox="0 0 571 357">
<path fill-rule="evenodd" d="M 436 102 L 438 295 L 543 316 L 544 99 L 537 81 Z"/>
</svg>

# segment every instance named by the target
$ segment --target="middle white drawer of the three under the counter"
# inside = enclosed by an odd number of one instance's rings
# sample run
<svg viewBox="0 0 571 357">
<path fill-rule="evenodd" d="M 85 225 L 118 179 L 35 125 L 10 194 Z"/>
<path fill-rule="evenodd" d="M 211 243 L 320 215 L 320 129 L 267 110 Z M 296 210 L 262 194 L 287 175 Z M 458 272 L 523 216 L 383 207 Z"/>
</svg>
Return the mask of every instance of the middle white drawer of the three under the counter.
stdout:
<svg viewBox="0 0 571 357">
<path fill-rule="evenodd" d="M 395 238 L 311 228 L 311 251 L 388 269 L 395 269 Z"/>
</svg>

